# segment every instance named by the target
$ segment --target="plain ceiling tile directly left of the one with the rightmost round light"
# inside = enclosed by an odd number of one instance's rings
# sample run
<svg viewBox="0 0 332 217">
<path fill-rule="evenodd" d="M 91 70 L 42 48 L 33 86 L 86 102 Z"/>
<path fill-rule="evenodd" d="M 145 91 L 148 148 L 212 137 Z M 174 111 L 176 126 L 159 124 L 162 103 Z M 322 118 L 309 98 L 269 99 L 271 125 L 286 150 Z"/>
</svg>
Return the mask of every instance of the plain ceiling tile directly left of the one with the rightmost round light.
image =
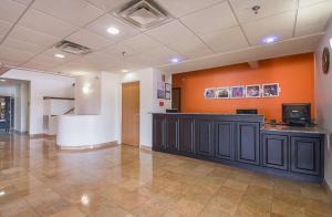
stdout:
<svg viewBox="0 0 332 217">
<path fill-rule="evenodd" d="M 201 35 L 204 42 L 215 52 L 229 52 L 248 48 L 248 42 L 239 27 L 224 29 Z"/>
</svg>

